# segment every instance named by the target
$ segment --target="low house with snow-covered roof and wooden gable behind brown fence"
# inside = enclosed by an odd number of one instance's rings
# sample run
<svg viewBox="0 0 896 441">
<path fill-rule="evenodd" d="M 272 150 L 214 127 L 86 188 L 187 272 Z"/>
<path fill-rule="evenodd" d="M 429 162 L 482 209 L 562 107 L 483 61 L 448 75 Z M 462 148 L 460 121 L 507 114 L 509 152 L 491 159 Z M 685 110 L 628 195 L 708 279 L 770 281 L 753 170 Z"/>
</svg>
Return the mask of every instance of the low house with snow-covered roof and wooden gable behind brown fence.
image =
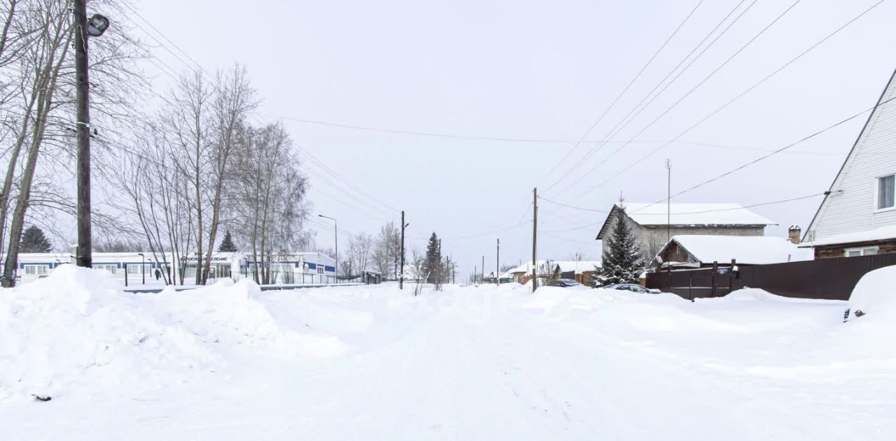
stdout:
<svg viewBox="0 0 896 441">
<path fill-rule="evenodd" d="M 656 256 L 657 267 L 672 269 L 766 265 L 812 260 L 812 251 L 772 236 L 713 236 L 683 234 L 672 238 Z"/>
</svg>

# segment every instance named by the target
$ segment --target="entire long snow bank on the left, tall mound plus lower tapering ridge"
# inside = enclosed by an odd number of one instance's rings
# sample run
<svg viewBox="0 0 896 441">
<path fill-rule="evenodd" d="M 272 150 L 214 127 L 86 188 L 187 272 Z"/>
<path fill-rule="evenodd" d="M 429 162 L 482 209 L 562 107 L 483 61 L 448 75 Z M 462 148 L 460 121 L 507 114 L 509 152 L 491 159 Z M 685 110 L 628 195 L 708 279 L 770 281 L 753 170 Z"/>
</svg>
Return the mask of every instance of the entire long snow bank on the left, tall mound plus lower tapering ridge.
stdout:
<svg viewBox="0 0 896 441">
<path fill-rule="evenodd" d="M 327 356 L 332 338 L 286 330 L 250 281 L 124 293 L 105 271 L 71 265 L 0 291 L 0 401 L 30 394 L 145 390 L 211 375 L 228 345 Z"/>
</svg>

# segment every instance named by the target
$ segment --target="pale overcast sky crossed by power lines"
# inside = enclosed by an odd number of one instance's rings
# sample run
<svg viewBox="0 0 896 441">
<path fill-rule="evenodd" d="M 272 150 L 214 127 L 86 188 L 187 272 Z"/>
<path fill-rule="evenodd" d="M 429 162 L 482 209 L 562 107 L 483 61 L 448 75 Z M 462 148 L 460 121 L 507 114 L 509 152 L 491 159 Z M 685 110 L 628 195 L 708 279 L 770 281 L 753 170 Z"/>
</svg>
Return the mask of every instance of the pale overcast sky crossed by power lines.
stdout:
<svg viewBox="0 0 896 441">
<path fill-rule="evenodd" d="M 501 239 L 502 263 L 530 257 L 532 228 L 525 221 L 531 219 L 535 186 L 548 199 L 596 209 L 610 208 L 620 193 L 632 202 L 662 199 L 667 158 L 672 191 L 681 191 L 762 156 L 763 149 L 783 147 L 874 106 L 896 67 L 896 2 L 891 0 L 680 138 L 689 143 L 670 144 L 599 185 L 877 3 L 799 2 L 635 137 L 793 4 L 746 0 L 735 13 L 749 7 L 741 18 L 611 138 L 635 142 L 612 157 L 624 144 L 611 142 L 583 161 L 595 141 L 741 3 L 706 0 L 590 132 L 591 142 L 551 173 L 698 1 L 143 0 L 135 7 L 205 69 L 246 64 L 264 99 L 259 113 L 270 121 L 282 117 L 301 148 L 350 182 L 306 162 L 315 214 L 337 217 L 347 233 L 375 233 L 387 221 L 398 223 L 400 215 L 392 208 L 404 209 L 411 225 L 409 249 L 423 249 L 435 231 L 444 238 L 444 253 L 460 262 L 462 276 L 481 256 L 487 270 L 494 268 L 495 238 Z M 151 30 L 135 15 L 111 18 Z M 154 53 L 185 68 L 164 47 Z M 157 75 L 159 90 L 167 87 L 168 77 L 152 65 L 147 72 Z M 286 118 L 557 141 L 427 137 Z M 826 191 L 864 122 L 863 115 L 676 200 L 750 205 Z M 572 174 L 548 190 L 571 168 Z M 371 199 L 361 191 L 376 201 L 358 202 Z M 783 236 L 788 225 L 805 228 L 820 200 L 754 210 L 780 224 L 767 234 Z M 581 252 L 598 259 L 599 225 L 573 228 L 599 223 L 603 216 L 542 202 L 539 229 L 546 233 L 538 243 L 539 258 Z M 332 233 L 317 229 L 321 244 L 332 242 Z M 551 230 L 567 231 L 547 233 Z"/>
</svg>

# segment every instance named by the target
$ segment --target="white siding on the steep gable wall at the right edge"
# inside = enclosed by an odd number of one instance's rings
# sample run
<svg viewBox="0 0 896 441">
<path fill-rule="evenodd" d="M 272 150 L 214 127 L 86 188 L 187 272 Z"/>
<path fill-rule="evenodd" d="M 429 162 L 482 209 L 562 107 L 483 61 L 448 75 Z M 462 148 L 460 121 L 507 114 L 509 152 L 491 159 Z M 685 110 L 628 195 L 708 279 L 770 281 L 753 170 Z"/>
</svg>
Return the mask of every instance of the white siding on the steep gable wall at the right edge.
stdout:
<svg viewBox="0 0 896 441">
<path fill-rule="evenodd" d="M 892 81 L 880 102 L 896 98 Z M 875 212 L 877 178 L 896 174 L 896 100 L 877 107 L 850 152 L 805 241 L 896 225 L 896 210 Z"/>
</svg>

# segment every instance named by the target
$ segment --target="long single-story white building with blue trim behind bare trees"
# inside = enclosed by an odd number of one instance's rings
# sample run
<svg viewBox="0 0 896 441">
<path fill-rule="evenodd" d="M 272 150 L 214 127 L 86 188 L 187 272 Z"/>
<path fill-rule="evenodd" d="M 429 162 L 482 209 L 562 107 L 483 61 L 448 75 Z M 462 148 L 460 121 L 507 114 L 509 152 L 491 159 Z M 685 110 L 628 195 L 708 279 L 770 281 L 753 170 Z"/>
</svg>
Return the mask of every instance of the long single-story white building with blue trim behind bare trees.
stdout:
<svg viewBox="0 0 896 441">
<path fill-rule="evenodd" d="M 179 284 L 179 271 L 184 273 L 184 283 L 193 284 L 198 259 L 195 253 L 182 259 L 181 265 L 173 264 L 170 253 L 150 251 L 94 252 L 93 267 L 103 269 L 120 279 L 123 284 L 164 284 L 165 279 Z M 46 277 L 60 265 L 73 263 L 70 253 L 21 253 L 16 268 L 18 282 L 27 283 Z M 255 262 L 252 255 L 243 252 L 215 252 L 211 254 L 209 280 L 222 278 L 239 280 L 251 277 Z M 2 268 L 3 263 L 0 263 Z M 336 260 L 319 252 L 291 252 L 265 262 L 271 268 L 274 284 L 320 284 L 336 281 Z M 158 276 L 158 277 L 157 277 Z"/>
</svg>

